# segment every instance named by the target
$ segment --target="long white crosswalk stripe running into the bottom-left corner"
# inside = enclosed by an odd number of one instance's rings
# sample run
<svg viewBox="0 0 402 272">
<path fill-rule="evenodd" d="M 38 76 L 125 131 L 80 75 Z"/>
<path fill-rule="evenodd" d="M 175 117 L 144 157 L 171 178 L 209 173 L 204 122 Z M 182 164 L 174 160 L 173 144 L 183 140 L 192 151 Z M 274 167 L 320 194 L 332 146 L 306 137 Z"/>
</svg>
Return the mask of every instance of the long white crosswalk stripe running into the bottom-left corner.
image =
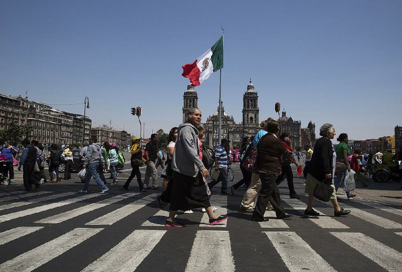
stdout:
<svg viewBox="0 0 402 272">
<path fill-rule="evenodd" d="M 0 271 L 29 272 L 95 235 L 103 228 L 75 228 L 0 265 Z"/>
</svg>

